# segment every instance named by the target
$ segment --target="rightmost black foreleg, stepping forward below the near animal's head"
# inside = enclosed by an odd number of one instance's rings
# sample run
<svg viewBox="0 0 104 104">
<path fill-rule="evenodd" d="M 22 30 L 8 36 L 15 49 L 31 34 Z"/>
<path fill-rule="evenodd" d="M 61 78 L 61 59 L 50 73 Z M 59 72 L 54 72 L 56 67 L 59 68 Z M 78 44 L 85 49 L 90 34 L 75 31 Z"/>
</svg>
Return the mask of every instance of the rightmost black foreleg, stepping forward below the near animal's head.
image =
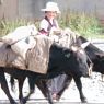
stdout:
<svg viewBox="0 0 104 104">
<path fill-rule="evenodd" d="M 84 94 L 83 94 L 83 92 L 82 92 L 82 83 L 81 83 L 80 77 L 77 77 L 77 76 L 76 76 L 76 77 L 73 77 L 73 79 L 74 79 L 76 85 L 77 85 L 77 88 L 78 88 L 78 90 L 79 90 L 81 101 L 82 101 L 83 103 L 86 103 L 86 97 L 84 96 Z"/>
</svg>

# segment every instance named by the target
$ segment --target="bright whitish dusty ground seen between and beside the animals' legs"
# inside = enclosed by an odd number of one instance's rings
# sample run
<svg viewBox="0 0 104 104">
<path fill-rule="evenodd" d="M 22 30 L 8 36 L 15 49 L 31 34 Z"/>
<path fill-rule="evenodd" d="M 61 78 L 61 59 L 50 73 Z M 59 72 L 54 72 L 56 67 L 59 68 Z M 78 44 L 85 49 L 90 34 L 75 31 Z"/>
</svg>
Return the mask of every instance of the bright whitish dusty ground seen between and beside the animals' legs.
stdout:
<svg viewBox="0 0 104 104">
<path fill-rule="evenodd" d="M 9 76 L 7 74 L 8 82 L 9 82 Z M 93 72 L 92 78 L 81 78 L 82 84 L 83 84 L 83 92 L 84 95 L 88 99 L 89 103 L 103 103 L 104 104 L 104 82 L 102 82 L 101 74 Z M 10 84 L 9 84 L 10 86 Z M 25 84 L 23 88 L 23 93 L 26 95 L 28 92 L 28 84 L 27 79 L 25 80 Z M 12 96 L 18 100 L 18 83 L 16 83 L 16 90 L 15 93 L 11 91 Z M 5 94 L 0 89 L 0 101 L 4 102 L 7 101 Z M 42 95 L 41 91 L 36 88 L 36 92 L 31 96 L 31 101 L 28 102 L 46 102 L 44 96 Z M 79 92 L 74 84 L 74 81 L 71 82 L 70 86 L 65 91 L 63 95 L 61 96 L 60 102 L 80 102 Z M 1 104 L 1 103 L 0 103 Z M 31 103 L 30 103 L 31 104 Z"/>
</svg>

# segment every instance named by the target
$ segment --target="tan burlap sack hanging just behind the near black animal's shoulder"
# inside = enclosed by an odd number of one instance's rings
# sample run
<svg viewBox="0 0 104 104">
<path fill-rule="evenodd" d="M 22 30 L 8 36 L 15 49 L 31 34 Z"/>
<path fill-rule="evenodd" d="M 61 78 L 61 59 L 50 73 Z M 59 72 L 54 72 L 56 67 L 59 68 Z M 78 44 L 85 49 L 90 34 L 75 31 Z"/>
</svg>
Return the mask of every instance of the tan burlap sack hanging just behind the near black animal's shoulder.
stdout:
<svg viewBox="0 0 104 104">
<path fill-rule="evenodd" d="M 45 35 L 35 36 L 35 39 L 36 39 L 35 48 L 27 53 L 26 65 L 28 67 L 26 70 L 45 74 L 48 69 L 49 48 L 54 41 Z"/>
</svg>

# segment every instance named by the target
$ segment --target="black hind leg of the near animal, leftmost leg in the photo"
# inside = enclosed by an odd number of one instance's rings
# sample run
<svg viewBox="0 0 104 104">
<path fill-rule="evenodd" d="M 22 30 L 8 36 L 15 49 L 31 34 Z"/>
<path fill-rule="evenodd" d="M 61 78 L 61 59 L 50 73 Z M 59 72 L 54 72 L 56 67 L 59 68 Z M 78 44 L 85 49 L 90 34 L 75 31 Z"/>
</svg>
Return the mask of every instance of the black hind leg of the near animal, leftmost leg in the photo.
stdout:
<svg viewBox="0 0 104 104">
<path fill-rule="evenodd" d="M 5 77 L 4 77 L 4 71 L 0 69 L 0 83 L 1 83 L 1 88 L 2 90 L 4 91 L 4 93 L 7 94 L 9 101 L 11 104 L 18 104 L 13 97 L 10 95 L 10 92 L 9 92 L 9 88 L 8 88 L 8 83 L 7 83 L 7 80 L 5 80 Z"/>
</svg>

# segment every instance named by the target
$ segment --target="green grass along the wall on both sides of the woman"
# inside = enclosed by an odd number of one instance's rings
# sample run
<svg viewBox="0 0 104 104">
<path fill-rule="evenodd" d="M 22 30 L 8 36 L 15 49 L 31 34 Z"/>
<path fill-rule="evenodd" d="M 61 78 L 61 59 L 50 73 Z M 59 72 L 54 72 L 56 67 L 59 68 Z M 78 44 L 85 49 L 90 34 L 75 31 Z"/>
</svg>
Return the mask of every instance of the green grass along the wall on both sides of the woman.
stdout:
<svg viewBox="0 0 104 104">
<path fill-rule="evenodd" d="M 91 38 L 104 38 L 104 26 L 100 24 L 100 21 L 94 15 L 86 15 L 84 13 L 65 12 L 63 15 L 58 19 L 61 28 L 70 27 L 72 31 L 78 32 L 84 37 Z M 35 24 L 38 27 L 38 21 L 15 20 L 15 21 L 0 21 L 0 36 L 12 32 L 18 26 Z"/>
</svg>

